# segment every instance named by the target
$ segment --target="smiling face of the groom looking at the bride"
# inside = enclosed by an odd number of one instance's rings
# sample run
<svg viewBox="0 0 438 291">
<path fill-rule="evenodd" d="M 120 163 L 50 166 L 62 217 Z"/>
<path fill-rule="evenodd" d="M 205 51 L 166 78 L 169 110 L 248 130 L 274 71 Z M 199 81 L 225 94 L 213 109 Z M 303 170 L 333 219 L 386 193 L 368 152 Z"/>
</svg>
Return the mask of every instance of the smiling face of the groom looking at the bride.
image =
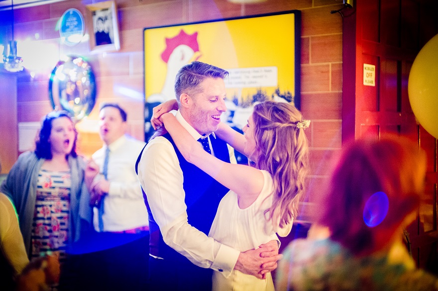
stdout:
<svg viewBox="0 0 438 291">
<path fill-rule="evenodd" d="M 222 78 L 206 78 L 201 82 L 200 88 L 200 92 L 189 95 L 188 122 L 198 133 L 205 135 L 219 127 L 220 115 L 226 111 L 226 90 Z"/>
</svg>

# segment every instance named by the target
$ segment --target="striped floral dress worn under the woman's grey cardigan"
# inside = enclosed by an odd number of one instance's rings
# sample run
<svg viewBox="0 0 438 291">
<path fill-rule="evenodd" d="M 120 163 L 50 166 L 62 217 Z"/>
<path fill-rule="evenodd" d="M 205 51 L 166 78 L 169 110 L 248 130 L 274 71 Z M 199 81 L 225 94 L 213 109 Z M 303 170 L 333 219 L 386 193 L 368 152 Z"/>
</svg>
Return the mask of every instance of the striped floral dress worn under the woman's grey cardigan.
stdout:
<svg viewBox="0 0 438 291">
<path fill-rule="evenodd" d="M 32 258 L 58 251 L 65 260 L 70 210 L 70 171 L 40 170 L 32 224 Z"/>
</svg>

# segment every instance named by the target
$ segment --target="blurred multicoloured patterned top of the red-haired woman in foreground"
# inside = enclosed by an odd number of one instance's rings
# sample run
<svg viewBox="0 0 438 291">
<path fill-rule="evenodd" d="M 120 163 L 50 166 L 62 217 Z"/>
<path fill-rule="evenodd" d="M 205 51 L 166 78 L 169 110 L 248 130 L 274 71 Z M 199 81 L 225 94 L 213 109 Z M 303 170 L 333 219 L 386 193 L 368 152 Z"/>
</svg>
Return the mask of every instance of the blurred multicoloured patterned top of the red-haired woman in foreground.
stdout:
<svg viewBox="0 0 438 291">
<path fill-rule="evenodd" d="M 438 278 L 417 269 L 402 243 L 389 253 L 355 257 L 330 239 L 297 239 L 283 252 L 276 290 L 438 290 Z"/>
</svg>

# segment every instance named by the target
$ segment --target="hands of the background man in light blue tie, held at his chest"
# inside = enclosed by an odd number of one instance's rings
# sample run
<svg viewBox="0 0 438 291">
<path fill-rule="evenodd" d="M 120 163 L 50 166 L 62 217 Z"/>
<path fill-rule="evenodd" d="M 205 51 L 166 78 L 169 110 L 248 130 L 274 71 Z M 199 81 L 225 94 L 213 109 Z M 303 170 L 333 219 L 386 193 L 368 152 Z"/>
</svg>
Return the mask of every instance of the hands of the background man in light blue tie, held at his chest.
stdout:
<svg viewBox="0 0 438 291">
<path fill-rule="evenodd" d="M 88 161 L 85 168 L 85 184 L 90 192 L 90 206 L 99 207 L 109 192 L 109 181 L 99 173 L 99 165 L 93 159 Z"/>
</svg>

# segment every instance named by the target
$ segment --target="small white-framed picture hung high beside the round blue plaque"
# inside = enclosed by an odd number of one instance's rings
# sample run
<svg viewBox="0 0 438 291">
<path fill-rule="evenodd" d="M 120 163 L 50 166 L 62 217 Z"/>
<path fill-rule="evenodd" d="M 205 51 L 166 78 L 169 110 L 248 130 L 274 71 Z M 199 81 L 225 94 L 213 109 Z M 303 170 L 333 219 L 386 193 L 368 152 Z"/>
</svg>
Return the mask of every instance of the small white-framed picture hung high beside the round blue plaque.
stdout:
<svg viewBox="0 0 438 291">
<path fill-rule="evenodd" d="M 118 51 L 120 41 L 115 1 L 98 2 L 86 7 L 91 51 Z"/>
</svg>

